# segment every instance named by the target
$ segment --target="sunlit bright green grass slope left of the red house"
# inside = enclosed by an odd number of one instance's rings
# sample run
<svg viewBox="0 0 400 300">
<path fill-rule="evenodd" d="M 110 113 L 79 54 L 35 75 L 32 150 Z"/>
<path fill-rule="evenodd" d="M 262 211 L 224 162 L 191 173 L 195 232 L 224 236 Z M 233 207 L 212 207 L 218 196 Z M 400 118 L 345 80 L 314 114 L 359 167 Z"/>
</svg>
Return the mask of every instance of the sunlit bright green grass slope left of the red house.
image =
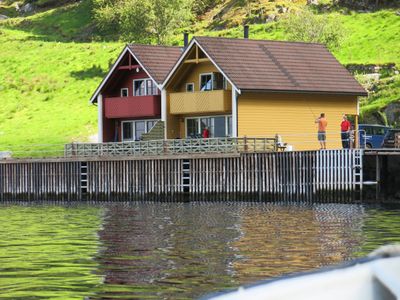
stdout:
<svg viewBox="0 0 400 300">
<path fill-rule="evenodd" d="M 1 29 L 0 151 L 88 140 L 97 124 L 89 97 L 122 47 L 37 37 Z"/>
</svg>

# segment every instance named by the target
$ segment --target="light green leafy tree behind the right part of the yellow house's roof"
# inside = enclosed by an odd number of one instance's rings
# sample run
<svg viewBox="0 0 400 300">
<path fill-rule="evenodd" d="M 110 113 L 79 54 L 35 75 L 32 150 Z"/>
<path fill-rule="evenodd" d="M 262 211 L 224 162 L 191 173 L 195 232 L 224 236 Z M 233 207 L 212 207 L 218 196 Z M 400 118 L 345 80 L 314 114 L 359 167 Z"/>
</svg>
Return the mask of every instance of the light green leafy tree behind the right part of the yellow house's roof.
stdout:
<svg viewBox="0 0 400 300">
<path fill-rule="evenodd" d="M 289 40 L 322 43 L 331 50 L 340 47 L 344 38 L 339 18 L 316 15 L 310 10 L 290 14 L 283 26 Z"/>
</svg>

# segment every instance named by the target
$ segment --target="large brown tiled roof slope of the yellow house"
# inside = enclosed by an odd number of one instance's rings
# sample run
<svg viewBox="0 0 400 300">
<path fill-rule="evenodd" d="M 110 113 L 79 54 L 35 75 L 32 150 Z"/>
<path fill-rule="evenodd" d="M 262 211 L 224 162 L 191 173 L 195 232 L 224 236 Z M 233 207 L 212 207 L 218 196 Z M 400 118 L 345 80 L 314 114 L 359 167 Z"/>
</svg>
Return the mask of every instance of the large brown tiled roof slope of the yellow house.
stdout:
<svg viewBox="0 0 400 300">
<path fill-rule="evenodd" d="M 324 45 L 195 37 L 240 90 L 367 95 Z"/>
</svg>

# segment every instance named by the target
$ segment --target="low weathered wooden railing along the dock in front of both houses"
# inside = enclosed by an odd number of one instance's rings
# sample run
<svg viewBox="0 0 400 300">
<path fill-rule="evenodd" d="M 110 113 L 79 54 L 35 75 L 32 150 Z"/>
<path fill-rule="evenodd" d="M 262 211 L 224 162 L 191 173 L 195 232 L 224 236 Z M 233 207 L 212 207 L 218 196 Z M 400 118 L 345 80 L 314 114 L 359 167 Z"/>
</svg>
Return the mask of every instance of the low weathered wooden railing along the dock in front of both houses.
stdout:
<svg viewBox="0 0 400 300">
<path fill-rule="evenodd" d="M 210 138 L 153 140 L 121 143 L 72 143 L 66 157 L 160 156 L 208 153 L 271 152 L 278 150 L 276 138 Z"/>
</svg>

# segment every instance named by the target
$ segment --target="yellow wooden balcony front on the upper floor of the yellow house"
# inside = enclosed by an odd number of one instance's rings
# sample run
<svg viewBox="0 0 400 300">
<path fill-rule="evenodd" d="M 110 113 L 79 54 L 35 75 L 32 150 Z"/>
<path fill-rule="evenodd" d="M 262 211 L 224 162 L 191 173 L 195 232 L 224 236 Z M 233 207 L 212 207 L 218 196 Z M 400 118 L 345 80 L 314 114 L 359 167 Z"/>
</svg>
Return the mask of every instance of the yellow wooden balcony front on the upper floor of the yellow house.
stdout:
<svg viewBox="0 0 400 300">
<path fill-rule="evenodd" d="M 232 110 L 231 95 L 232 92 L 226 90 L 171 93 L 170 113 L 182 115 L 230 112 Z"/>
</svg>

